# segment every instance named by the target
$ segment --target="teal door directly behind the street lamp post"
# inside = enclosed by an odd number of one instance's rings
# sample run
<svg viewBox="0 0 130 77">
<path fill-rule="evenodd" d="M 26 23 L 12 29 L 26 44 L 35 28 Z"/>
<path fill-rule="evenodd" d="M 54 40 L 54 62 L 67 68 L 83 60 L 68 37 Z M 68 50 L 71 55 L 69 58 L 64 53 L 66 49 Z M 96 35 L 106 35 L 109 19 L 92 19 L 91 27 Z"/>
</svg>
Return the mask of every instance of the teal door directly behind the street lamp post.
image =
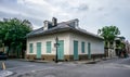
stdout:
<svg viewBox="0 0 130 77">
<path fill-rule="evenodd" d="M 57 60 L 64 60 L 64 40 L 58 41 L 60 46 L 57 47 Z"/>
</svg>

